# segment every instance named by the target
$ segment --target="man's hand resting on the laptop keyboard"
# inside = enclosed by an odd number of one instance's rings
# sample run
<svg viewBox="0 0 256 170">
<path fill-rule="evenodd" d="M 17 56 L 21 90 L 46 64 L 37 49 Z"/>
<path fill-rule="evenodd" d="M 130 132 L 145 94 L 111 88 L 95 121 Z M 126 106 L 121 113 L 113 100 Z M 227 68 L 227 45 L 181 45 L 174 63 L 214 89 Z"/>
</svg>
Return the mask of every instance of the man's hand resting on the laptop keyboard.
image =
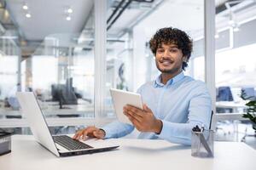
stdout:
<svg viewBox="0 0 256 170">
<path fill-rule="evenodd" d="M 79 130 L 75 135 L 73 136 L 73 139 L 87 139 L 87 138 L 96 138 L 96 139 L 104 139 L 105 132 L 97 127 L 86 127 L 84 129 Z"/>
</svg>

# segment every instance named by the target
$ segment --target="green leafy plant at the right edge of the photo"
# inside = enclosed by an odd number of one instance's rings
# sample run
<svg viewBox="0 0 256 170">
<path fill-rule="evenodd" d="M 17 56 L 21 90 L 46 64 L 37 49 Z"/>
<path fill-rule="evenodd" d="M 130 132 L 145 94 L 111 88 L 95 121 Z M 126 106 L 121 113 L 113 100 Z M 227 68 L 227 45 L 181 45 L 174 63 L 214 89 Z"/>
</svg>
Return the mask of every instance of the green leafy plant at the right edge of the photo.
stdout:
<svg viewBox="0 0 256 170">
<path fill-rule="evenodd" d="M 253 129 L 256 132 L 256 98 L 253 96 L 247 96 L 244 90 L 241 90 L 241 99 L 248 100 L 247 105 L 247 113 L 243 114 L 242 117 L 248 118 L 252 124 Z"/>
</svg>

